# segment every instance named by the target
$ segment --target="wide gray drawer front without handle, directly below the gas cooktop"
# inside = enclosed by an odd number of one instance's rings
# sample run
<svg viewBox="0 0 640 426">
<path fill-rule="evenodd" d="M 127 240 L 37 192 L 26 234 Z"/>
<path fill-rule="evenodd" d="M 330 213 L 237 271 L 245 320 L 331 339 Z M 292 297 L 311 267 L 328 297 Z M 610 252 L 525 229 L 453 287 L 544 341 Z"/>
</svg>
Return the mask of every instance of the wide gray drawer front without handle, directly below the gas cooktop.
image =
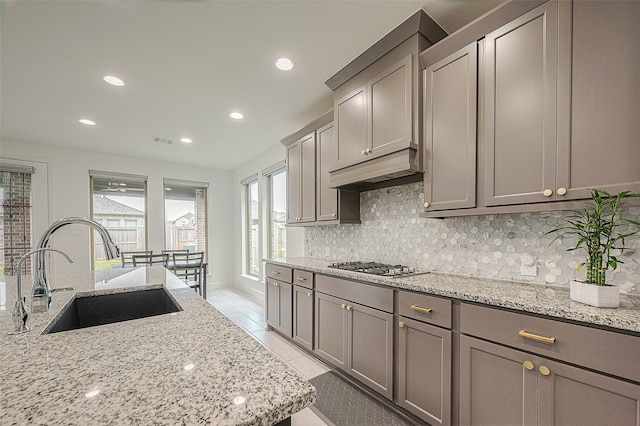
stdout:
<svg viewBox="0 0 640 426">
<path fill-rule="evenodd" d="M 393 313 L 393 290 L 341 278 L 316 275 L 316 290 Z"/>
</svg>

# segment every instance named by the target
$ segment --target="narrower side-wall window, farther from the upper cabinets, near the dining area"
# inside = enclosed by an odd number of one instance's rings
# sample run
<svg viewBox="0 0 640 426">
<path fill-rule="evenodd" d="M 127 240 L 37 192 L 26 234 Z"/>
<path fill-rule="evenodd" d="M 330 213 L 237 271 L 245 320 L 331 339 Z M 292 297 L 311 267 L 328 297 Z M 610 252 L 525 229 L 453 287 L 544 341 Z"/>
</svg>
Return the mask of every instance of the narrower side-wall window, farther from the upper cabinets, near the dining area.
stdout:
<svg viewBox="0 0 640 426">
<path fill-rule="evenodd" d="M 260 212 L 258 204 L 258 175 L 242 181 L 245 205 L 245 273 L 254 277 L 260 275 Z"/>
</svg>

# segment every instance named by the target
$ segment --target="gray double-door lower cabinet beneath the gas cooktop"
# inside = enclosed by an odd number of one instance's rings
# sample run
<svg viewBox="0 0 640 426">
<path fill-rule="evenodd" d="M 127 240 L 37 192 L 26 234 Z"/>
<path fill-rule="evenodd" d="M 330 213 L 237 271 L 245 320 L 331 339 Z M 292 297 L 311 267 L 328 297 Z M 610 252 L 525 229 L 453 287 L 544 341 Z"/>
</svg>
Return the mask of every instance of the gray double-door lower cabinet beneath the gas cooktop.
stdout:
<svg viewBox="0 0 640 426">
<path fill-rule="evenodd" d="M 392 399 L 393 315 L 320 292 L 315 308 L 315 353 Z"/>
</svg>

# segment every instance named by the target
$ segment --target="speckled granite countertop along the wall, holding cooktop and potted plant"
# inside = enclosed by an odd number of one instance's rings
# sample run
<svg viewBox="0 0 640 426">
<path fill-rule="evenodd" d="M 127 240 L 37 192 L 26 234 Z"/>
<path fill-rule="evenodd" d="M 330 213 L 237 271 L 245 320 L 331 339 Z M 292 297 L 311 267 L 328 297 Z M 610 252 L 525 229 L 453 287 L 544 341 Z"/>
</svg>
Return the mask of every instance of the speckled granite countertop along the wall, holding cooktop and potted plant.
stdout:
<svg viewBox="0 0 640 426">
<path fill-rule="evenodd" d="M 546 315 L 586 325 L 604 326 L 640 333 L 640 297 L 620 295 L 616 309 L 594 308 L 572 301 L 569 288 L 525 282 L 500 281 L 439 272 L 405 278 L 389 278 L 328 268 L 333 260 L 309 257 L 268 259 L 292 268 L 355 279 L 387 287 L 450 297 L 496 307 Z"/>
</svg>

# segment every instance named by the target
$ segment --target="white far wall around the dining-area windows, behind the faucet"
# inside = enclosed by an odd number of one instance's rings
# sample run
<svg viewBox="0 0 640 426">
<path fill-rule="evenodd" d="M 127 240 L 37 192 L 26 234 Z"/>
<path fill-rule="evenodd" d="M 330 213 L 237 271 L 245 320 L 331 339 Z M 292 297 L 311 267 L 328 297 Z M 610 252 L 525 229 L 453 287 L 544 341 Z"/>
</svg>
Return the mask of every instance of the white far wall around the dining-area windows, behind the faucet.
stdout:
<svg viewBox="0 0 640 426">
<path fill-rule="evenodd" d="M 48 165 L 49 218 L 51 221 L 68 216 L 89 216 L 89 170 L 145 175 L 147 183 L 148 249 L 159 252 L 164 248 L 164 189 L 163 178 L 208 182 L 208 256 L 209 286 L 229 285 L 233 282 L 234 247 L 231 230 L 235 210 L 232 200 L 231 172 L 193 167 L 178 163 L 133 158 L 100 152 L 62 148 L 35 143 L 2 140 L 0 157 L 23 161 L 37 161 Z M 235 194 L 234 200 L 235 200 Z M 42 229 L 34 229 L 37 239 Z M 89 228 L 72 225 L 58 231 L 51 246 L 67 252 L 73 264 L 52 256 L 56 272 L 90 268 Z"/>
</svg>

